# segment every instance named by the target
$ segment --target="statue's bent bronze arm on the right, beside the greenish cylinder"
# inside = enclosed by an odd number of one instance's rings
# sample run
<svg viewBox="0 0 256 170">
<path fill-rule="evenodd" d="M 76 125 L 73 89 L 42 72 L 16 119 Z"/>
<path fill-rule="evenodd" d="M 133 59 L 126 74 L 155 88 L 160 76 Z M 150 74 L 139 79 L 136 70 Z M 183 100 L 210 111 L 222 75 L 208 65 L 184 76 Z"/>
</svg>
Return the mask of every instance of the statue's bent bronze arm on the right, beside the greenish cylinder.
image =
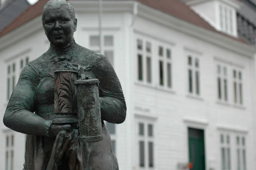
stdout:
<svg viewBox="0 0 256 170">
<path fill-rule="evenodd" d="M 104 57 L 92 70 L 99 79 L 101 118 L 109 123 L 122 123 L 126 117 L 126 103 L 115 70 Z"/>
</svg>

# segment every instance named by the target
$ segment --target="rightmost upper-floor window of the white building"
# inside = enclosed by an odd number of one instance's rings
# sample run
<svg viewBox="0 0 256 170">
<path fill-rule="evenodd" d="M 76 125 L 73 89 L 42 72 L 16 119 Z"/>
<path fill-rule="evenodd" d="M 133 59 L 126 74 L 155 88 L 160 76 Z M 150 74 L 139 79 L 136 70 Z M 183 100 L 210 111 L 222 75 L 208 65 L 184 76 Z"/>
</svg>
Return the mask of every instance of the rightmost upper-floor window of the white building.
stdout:
<svg viewBox="0 0 256 170">
<path fill-rule="evenodd" d="M 233 94 L 234 103 L 243 104 L 243 83 L 242 83 L 242 72 L 233 70 Z"/>
</svg>

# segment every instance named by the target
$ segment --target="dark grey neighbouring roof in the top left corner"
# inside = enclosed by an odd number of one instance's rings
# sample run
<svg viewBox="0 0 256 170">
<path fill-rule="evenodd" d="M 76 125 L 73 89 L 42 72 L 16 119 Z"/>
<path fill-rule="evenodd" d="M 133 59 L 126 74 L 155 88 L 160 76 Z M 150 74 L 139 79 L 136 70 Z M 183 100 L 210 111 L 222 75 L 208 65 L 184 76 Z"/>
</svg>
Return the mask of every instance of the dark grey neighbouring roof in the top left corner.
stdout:
<svg viewBox="0 0 256 170">
<path fill-rule="evenodd" d="M 0 8 L 0 32 L 30 7 L 26 0 L 7 0 L 3 5 Z"/>
</svg>

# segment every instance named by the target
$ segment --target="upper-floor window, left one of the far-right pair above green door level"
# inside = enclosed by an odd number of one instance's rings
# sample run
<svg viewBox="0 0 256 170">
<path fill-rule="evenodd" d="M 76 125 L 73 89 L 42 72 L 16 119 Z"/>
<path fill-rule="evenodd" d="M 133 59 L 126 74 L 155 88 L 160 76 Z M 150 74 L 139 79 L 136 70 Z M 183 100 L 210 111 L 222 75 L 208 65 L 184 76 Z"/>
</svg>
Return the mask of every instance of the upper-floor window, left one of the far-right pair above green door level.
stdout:
<svg viewBox="0 0 256 170">
<path fill-rule="evenodd" d="M 217 96 L 220 101 L 228 101 L 228 72 L 227 67 L 217 65 Z"/>
</svg>

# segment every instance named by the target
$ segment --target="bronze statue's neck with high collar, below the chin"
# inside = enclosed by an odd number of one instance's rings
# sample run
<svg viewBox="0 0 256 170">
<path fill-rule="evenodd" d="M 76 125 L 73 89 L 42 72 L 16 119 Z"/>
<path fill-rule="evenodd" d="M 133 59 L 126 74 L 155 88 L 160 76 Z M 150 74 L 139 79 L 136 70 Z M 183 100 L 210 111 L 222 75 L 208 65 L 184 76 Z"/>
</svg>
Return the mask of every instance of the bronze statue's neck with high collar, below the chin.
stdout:
<svg viewBox="0 0 256 170">
<path fill-rule="evenodd" d="M 56 54 L 56 55 L 64 55 L 64 54 L 68 54 L 69 52 L 73 51 L 75 48 L 75 39 L 73 38 L 71 43 L 69 43 L 67 46 L 65 47 L 55 47 L 52 43 L 50 44 L 50 49 L 49 52 L 52 54 Z"/>
</svg>

